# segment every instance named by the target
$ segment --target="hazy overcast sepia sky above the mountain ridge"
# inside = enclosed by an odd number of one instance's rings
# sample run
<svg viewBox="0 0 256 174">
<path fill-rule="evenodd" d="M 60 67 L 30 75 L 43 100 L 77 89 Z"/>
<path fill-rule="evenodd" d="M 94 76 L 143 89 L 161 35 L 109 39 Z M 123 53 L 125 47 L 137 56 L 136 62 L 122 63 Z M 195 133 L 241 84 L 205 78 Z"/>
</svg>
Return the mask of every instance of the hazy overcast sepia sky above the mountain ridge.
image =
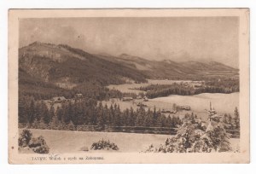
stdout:
<svg viewBox="0 0 256 174">
<path fill-rule="evenodd" d="M 237 17 L 22 19 L 20 47 L 40 41 L 95 54 L 238 67 L 238 26 Z"/>
</svg>

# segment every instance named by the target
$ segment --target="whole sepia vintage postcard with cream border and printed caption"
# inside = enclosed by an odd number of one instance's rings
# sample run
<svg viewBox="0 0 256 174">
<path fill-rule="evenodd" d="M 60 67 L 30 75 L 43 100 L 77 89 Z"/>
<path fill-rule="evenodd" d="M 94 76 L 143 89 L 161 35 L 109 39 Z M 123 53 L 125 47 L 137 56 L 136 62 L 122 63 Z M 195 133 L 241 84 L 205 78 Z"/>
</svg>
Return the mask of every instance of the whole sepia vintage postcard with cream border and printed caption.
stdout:
<svg viewBox="0 0 256 174">
<path fill-rule="evenodd" d="M 249 9 L 9 9 L 9 163 L 249 163 Z"/>
</svg>

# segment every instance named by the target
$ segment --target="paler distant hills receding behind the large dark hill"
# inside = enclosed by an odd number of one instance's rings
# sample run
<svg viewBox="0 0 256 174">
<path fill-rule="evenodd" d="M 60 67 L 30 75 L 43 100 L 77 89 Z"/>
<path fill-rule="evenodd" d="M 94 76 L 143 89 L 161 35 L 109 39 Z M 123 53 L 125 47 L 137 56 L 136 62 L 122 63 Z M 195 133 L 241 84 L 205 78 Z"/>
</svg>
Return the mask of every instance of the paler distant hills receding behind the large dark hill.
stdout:
<svg viewBox="0 0 256 174">
<path fill-rule="evenodd" d="M 108 61 L 120 62 L 127 67 L 136 68 L 150 78 L 196 79 L 221 76 L 233 77 L 239 73 L 238 69 L 217 61 L 148 61 L 142 57 L 127 54 L 122 54 L 118 57 L 102 55 L 102 57 L 105 57 Z"/>
</svg>

